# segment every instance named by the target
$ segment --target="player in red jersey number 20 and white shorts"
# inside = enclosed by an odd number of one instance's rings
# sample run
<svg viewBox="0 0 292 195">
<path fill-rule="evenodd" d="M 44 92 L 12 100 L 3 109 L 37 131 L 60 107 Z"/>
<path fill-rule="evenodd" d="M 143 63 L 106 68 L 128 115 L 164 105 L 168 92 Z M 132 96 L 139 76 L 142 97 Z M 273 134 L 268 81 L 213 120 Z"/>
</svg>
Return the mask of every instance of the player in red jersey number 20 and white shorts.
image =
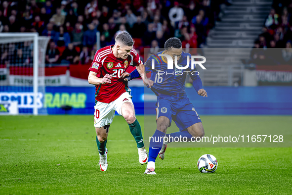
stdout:
<svg viewBox="0 0 292 195">
<path fill-rule="evenodd" d="M 129 66 L 135 66 L 144 85 L 151 87 L 153 81 L 144 76 L 145 67 L 139 54 L 133 49 L 134 42 L 131 36 L 127 32 L 122 32 L 117 35 L 115 41 L 115 45 L 96 51 L 88 76 L 89 84 L 95 85 L 94 127 L 101 171 L 106 171 L 108 167 L 106 143 L 115 111 L 122 115 L 129 125 L 137 143 L 139 162 L 141 164 L 148 162 L 141 126 L 135 117 L 131 90 L 123 73 Z"/>
</svg>

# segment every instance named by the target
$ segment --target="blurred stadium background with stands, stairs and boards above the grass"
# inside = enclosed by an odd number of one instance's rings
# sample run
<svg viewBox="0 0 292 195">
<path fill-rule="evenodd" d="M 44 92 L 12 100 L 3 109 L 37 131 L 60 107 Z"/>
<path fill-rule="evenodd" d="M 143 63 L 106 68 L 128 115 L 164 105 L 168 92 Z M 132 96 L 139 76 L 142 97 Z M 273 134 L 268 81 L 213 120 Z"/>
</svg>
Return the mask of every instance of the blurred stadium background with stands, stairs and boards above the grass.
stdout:
<svg viewBox="0 0 292 195">
<path fill-rule="evenodd" d="M 206 56 L 200 76 L 215 99 L 192 99 L 199 113 L 292 114 L 280 87 L 292 85 L 291 15 L 291 0 L 1 0 L 0 113 L 92 114 L 88 67 L 126 30 L 144 61 L 170 37 Z M 142 81 L 129 86 L 143 114 Z"/>
</svg>

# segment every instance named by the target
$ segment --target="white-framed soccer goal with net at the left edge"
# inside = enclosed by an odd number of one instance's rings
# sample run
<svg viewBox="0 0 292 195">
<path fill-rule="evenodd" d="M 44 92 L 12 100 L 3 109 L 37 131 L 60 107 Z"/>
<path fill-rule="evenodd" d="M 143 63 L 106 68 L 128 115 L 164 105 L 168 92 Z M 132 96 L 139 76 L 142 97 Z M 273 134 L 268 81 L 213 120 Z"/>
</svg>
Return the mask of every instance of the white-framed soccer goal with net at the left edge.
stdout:
<svg viewBox="0 0 292 195">
<path fill-rule="evenodd" d="M 0 114 L 46 114 L 44 68 L 48 37 L 0 33 Z"/>
</svg>

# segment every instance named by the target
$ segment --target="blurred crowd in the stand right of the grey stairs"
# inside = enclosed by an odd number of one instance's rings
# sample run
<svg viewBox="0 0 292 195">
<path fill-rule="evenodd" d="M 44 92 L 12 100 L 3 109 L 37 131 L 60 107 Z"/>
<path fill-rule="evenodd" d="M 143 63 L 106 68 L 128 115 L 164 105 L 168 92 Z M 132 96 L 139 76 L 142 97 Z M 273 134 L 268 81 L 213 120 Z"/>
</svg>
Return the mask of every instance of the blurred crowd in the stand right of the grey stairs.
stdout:
<svg viewBox="0 0 292 195">
<path fill-rule="evenodd" d="M 292 65 L 292 0 L 273 1 L 250 58 L 258 65 Z"/>
</svg>

